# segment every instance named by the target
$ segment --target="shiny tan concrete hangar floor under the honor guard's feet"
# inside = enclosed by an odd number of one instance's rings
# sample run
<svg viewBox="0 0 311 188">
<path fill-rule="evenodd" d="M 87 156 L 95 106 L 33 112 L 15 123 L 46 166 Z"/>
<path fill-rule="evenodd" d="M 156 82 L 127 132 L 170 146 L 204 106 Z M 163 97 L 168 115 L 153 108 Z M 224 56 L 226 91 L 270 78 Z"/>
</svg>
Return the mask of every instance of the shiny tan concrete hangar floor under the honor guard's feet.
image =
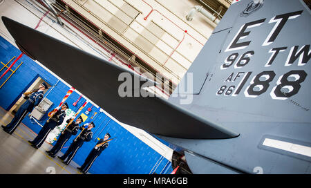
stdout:
<svg viewBox="0 0 311 188">
<path fill-rule="evenodd" d="M 13 116 L 0 107 L 0 124 L 6 126 Z M 39 126 L 39 125 L 38 125 Z M 12 135 L 0 128 L 0 173 L 9 174 L 81 174 L 74 161 L 63 164 L 59 158 L 51 158 L 45 152 L 52 145 L 45 142 L 39 149 L 34 149 L 28 143 L 37 136 L 25 124 L 20 124 Z M 63 153 L 59 152 L 58 156 Z"/>
</svg>

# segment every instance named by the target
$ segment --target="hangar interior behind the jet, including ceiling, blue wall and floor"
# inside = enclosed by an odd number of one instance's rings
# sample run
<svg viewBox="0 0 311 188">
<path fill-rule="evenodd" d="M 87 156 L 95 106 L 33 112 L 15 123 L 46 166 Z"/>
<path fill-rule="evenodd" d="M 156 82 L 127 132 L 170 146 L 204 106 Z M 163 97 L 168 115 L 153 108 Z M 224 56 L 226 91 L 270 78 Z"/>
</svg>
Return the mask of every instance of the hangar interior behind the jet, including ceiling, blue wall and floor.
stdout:
<svg viewBox="0 0 311 188">
<path fill-rule="evenodd" d="M 152 80 L 160 79 L 162 87 L 153 87 L 152 92 L 167 99 L 231 3 L 231 0 L 1 0 L 0 14 L 118 66 L 148 75 Z M 0 35 L 2 75 L 21 51 L 2 22 Z M 12 135 L 0 133 L 0 173 L 80 173 L 76 167 L 83 164 L 97 138 L 104 138 L 107 132 L 116 139 L 88 173 L 164 174 L 179 165 L 180 173 L 191 173 L 180 160 L 179 148 L 119 122 L 104 106 L 98 106 L 77 90 L 66 102 L 74 112 L 87 102 L 81 114 L 87 118 L 85 122 L 96 124 L 91 142 L 77 151 L 68 166 L 44 152 L 55 144 L 54 138 L 47 139 L 41 149 L 32 149 L 27 140 L 35 138 L 48 120 L 48 112 L 57 107 L 71 86 L 26 55 L 0 80 L 1 124 L 8 124 L 15 115 L 24 100 L 22 93 L 37 88 L 42 81 L 50 87 L 41 104 L 45 111 L 39 112 L 39 116 L 29 113 Z M 62 153 L 73 139 L 66 142 Z"/>
</svg>

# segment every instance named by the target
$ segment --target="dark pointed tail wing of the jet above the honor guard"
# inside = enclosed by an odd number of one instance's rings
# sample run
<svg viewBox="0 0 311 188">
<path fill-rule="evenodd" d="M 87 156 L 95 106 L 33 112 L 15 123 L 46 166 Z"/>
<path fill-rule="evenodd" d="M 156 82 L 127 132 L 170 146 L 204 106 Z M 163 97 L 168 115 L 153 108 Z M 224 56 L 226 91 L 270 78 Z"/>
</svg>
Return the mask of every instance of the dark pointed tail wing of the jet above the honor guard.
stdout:
<svg viewBox="0 0 311 188">
<path fill-rule="evenodd" d="M 133 77 L 140 75 L 7 17 L 2 17 L 2 20 L 23 52 L 62 77 L 120 122 L 174 138 L 217 139 L 238 136 L 238 133 L 202 119 L 160 97 L 120 97 L 120 73 L 130 73 Z"/>
</svg>

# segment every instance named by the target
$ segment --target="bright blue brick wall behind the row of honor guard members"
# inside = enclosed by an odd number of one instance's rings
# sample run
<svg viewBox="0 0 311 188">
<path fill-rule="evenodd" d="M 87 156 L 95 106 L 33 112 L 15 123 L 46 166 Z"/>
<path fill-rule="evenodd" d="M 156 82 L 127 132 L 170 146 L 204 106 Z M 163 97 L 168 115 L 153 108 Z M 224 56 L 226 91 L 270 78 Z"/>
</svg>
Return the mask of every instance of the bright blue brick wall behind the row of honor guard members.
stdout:
<svg viewBox="0 0 311 188">
<path fill-rule="evenodd" d="M 0 61 L 6 64 L 12 57 L 18 55 L 21 52 L 12 46 L 8 41 L 0 37 Z M 14 61 L 14 59 L 13 59 Z M 12 62 L 13 62 L 12 61 Z M 10 64 L 12 64 L 12 62 Z M 52 74 L 48 73 L 44 68 L 39 66 L 36 62 L 32 61 L 26 55 L 23 55 L 21 59 L 12 67 L 14 70 L 17 66 L 23 62 L 17 72 L 10 77 L 8 82 L 0 88 L 0 106 L 3 109 L 9 110 L 12 104 L 21 97 L 21 93 L 32 84 L 32 82 L 41 77 L 51 86 L 49 91 L 46 92 L 46 97 L 53 102 L 53 106 L 50 107 L 49 111 L 54 109 L 62 101 L 66 95 L 69 87 L 63 82 L 57 82 L 58 79 Z M 10 66 L 10 64 L 8 66 Z M 1 68 L 0 64 L 0 68 Z M 3 68 L 4 73 L 6 68 Z M 10 74 L 10 73 L 8 73 Z M 0 80 L 0 85 L 6 80 L 8 74 Z M 56 84 L 56 85 L 55 85 Z M 47 95 L 48 94 L 48 95 Z M 73 103 L 79 98 L 79 94 L 73 92 L 66 102 L 69 104 L 70 109 L 77 111 L 80 106 L 86 101 L 83 97 L 76 106 Z M 92 104 L 88 103 L 82 110 L 82 113 L 86 114 L 86 110 L 91 108 Z M 91 119 L 94 113 L 97 113 Z M 41 119 L 40 124 L 44 124 L 48 120 L 47 114 Z M 104 138 L 104 135 L 109 132 L 112 140 L 109 147 L 102 152 L 102 155 L 95 160 L 93 166 L 89 170 L 90 173 L 170 173 L 171 163 L 163 158 L 159 153 L 151 149 L 147 144 L 136 138 L 132 133 L 124 129 L 120 124 L 111 120 L 104 113 L 100 112 L 95 106 L 92 107 L 91 112 L 88 114 L 86 122 L 95 122 L 95 128 L 93 129 L 94 137 L 91 142 L 84 142 L 82 148 L 77 151 L 73 160 L 77 164 L 82 165 L 88 153 L 95 146 L 97 138 Z M 23 124 L 26 124 L 32 131 L 39 133 L 41 126 L 32 122 L 28 117 L 24 118 Z M 64 145 L 62 152 L 66 152 L 69 145 L 73 142 L 75 136 L 70 138 Z M 165 143 L 167 144 L 167 143 Z"/>
</svg>

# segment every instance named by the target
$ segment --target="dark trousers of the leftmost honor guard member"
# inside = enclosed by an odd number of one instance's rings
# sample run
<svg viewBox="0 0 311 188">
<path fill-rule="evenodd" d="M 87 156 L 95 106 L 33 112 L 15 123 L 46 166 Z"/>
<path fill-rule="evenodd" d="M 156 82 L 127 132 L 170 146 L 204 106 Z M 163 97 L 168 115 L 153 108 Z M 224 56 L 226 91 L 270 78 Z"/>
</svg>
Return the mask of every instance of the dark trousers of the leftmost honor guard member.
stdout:
<svg viewBox="0 0 311 188">
<path fill-rule="evenodd" d="M 23 118 L 25 118 L 25 116 L 28 113 L 28 107 L 30 105 L 28 103 L 29 102 L 26 101 L 24 104 L 21 105 L 21 107 L 19 108 L 19 110 L 15 114 L 14 118 L 12 119 L 12 121 L 9 124 L 7 124 L 6 127 L 4 128 L 4 130 L 6 132 L 12 134 L 15 131 L 15 129 L 17 129 L 17 126 L 19 126 L 21 121 L 23 121 Z"/>
</svg>

